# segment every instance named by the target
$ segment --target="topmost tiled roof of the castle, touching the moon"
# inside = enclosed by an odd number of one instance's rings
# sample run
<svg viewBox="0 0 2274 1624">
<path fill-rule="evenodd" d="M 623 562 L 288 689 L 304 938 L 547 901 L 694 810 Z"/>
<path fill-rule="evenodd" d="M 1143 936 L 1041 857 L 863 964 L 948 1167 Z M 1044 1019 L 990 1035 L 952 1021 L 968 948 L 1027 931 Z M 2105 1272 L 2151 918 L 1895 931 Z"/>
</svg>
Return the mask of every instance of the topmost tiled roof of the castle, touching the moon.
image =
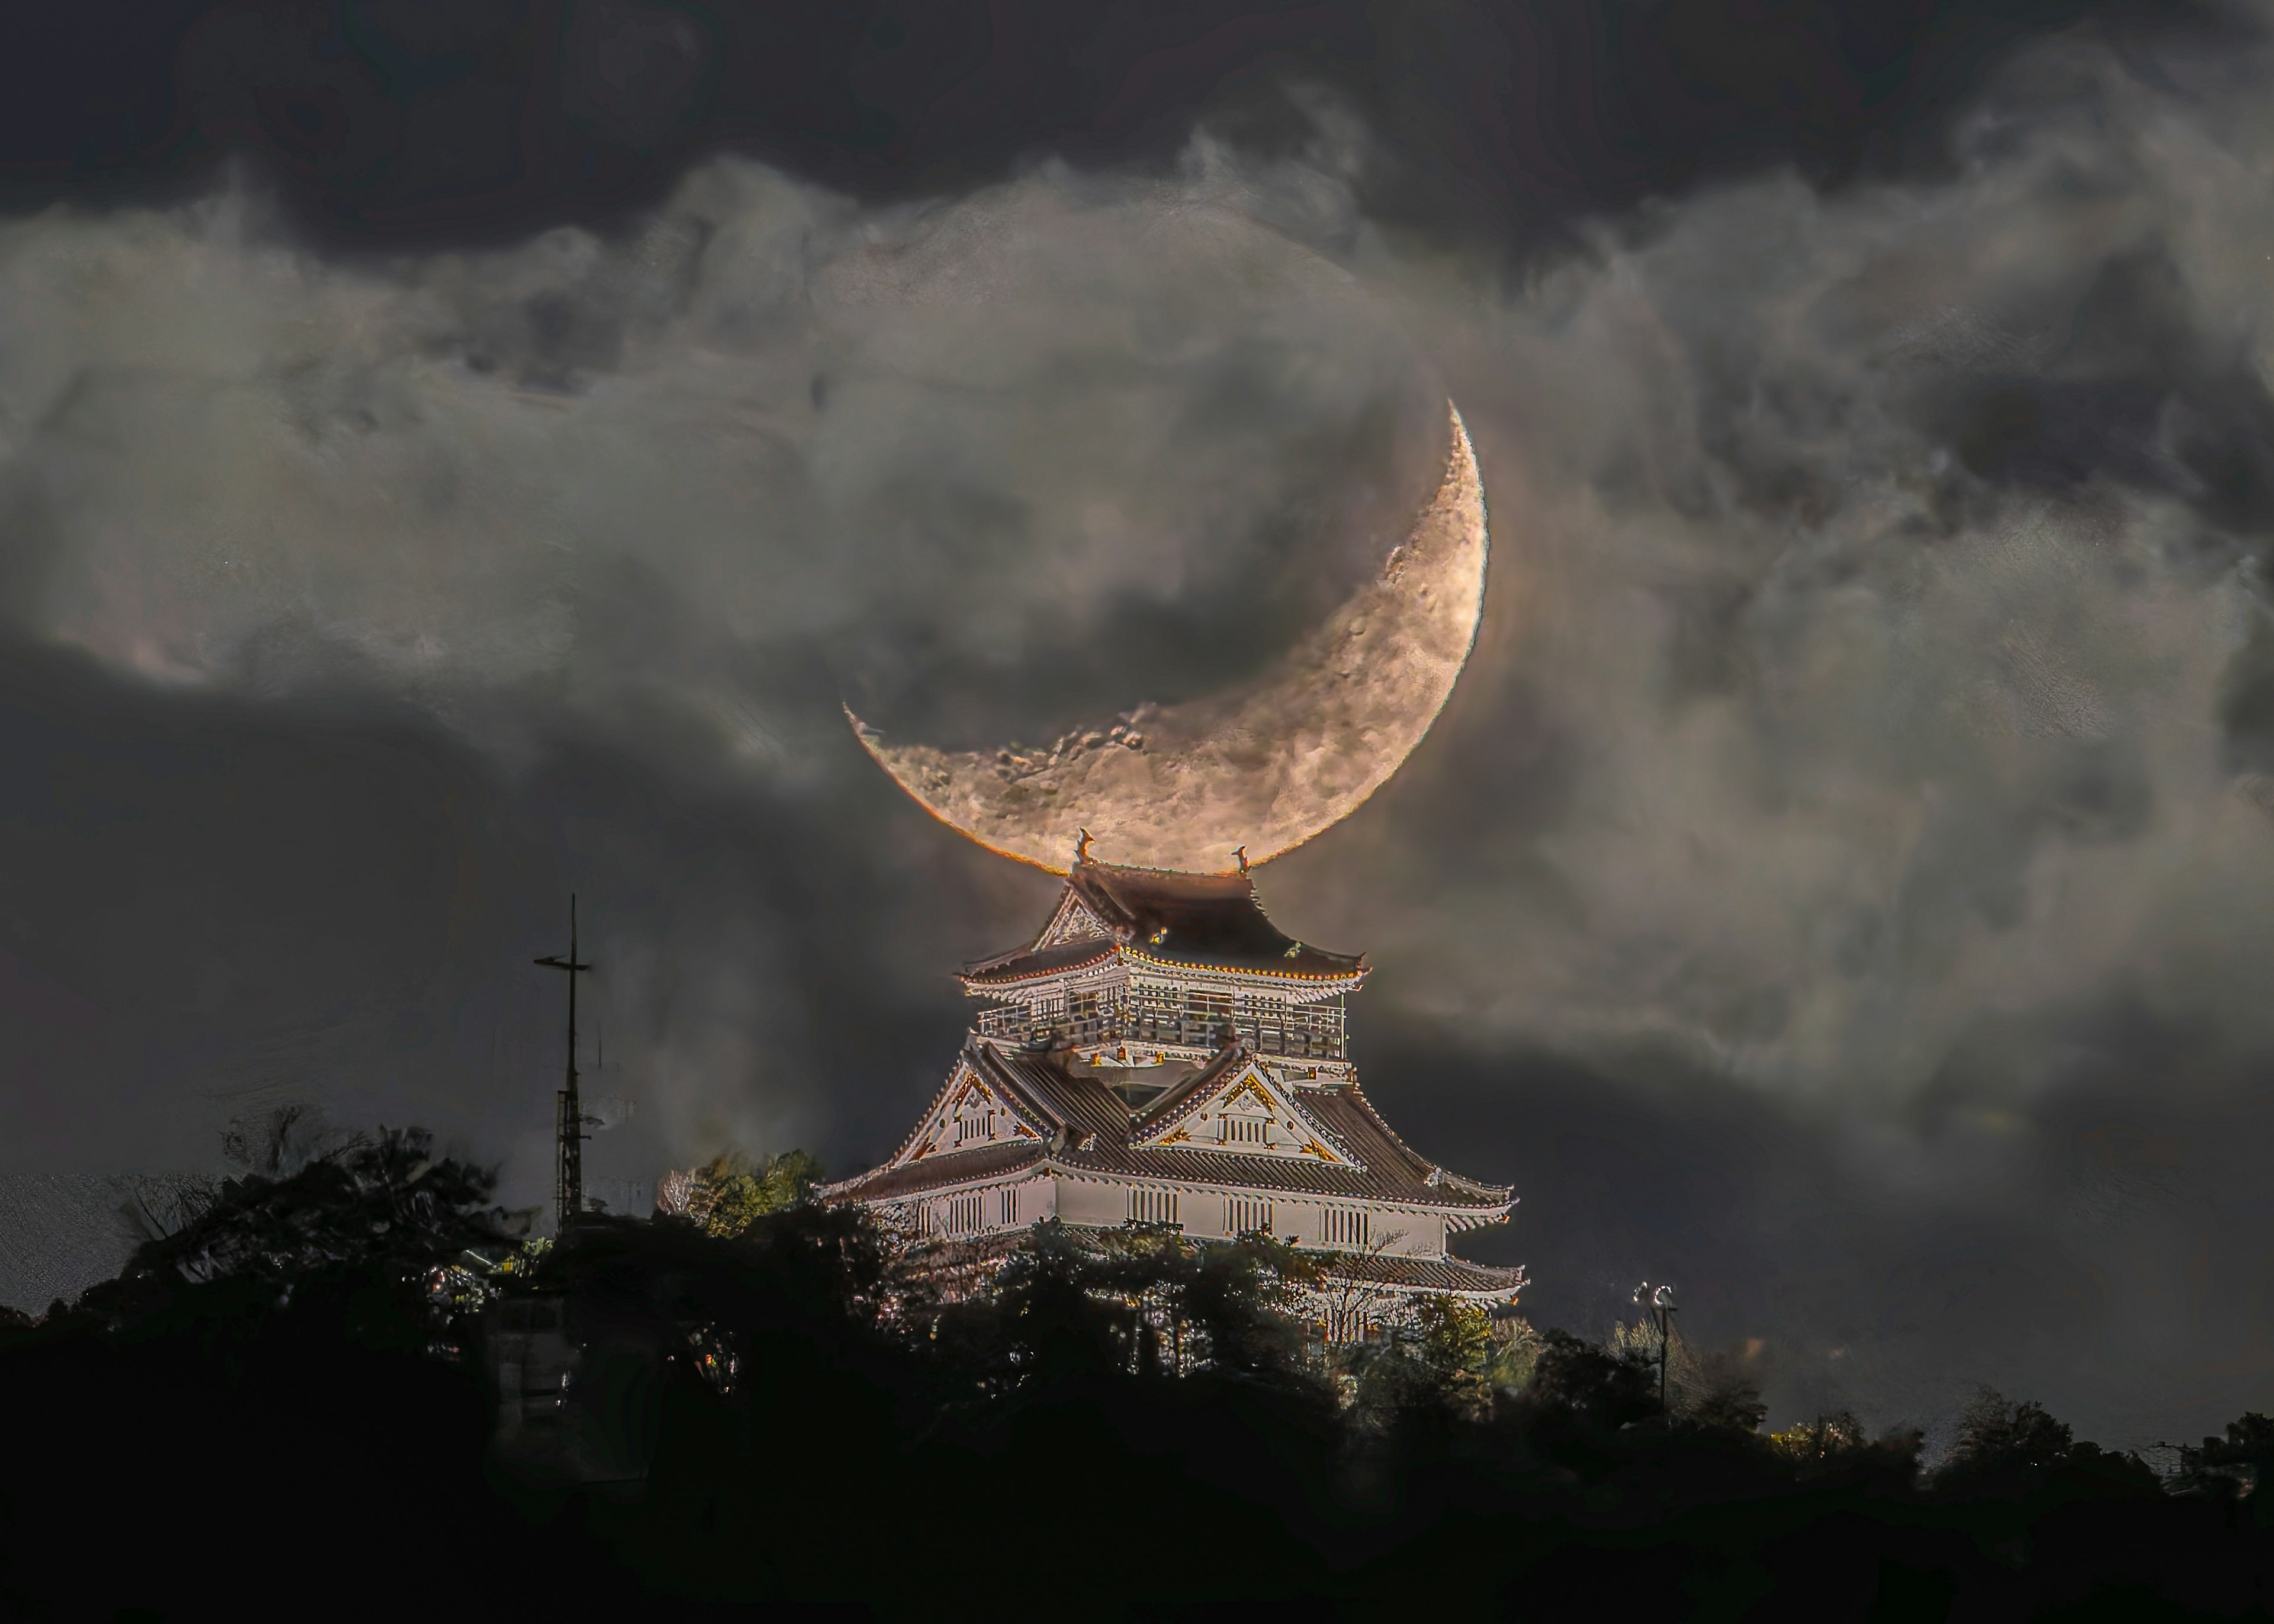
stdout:
<svg viewBox="0 0 2274 1624">
<path fill-rule="evenodd" d="M 1051 942 L 1062 933 L 1069 903 L 1092 914 L 1107 937 Z M 1271 923 L 1244 873 L 1173 873 L 1082 862 L 1067 876 L 1051 923 L 1021 948 L 964 967 L 964 983 L 1003 985 L 1105 958 L 1112 946 L 1164 962 L 1242 969 L 1298 980 L 1342 980 L 1367 973 L 1364 955 L 1328 953 L 1296 942 Z"/>
</svg>

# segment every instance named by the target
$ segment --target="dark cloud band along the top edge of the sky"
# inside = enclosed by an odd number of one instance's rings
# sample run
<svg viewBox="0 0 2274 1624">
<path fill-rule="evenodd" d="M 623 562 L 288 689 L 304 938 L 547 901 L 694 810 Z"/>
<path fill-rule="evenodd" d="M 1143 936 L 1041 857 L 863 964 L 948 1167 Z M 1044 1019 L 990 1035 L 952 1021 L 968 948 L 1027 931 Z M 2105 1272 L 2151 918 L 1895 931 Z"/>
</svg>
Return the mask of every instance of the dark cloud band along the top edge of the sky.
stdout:
<svg viewBox="0 0 2274 1624">
<path fill-rule="evenodd" d="M 248 159 L 325 241 L 512 241 L 621 223 L 719 150 L 878 202 L 1037 155 L 1157 173 L 1203 114 L 1285 157 L 1323 93 L 1371 132 L 1353 173 L 1371 218 L 1526 248 L 1771 166 L 1821 187 L 1949 177 L 1978 84 L 2078 25 L 2197 89 L 2233 73 L 2222 50 L 2256 18 L 2174 0 L 89 5 L 5 25 L 0 196 L 173 200 Z M 2201 50 L 2174 66 L 2156 50 L 2174 36 Z"/>
</svg>

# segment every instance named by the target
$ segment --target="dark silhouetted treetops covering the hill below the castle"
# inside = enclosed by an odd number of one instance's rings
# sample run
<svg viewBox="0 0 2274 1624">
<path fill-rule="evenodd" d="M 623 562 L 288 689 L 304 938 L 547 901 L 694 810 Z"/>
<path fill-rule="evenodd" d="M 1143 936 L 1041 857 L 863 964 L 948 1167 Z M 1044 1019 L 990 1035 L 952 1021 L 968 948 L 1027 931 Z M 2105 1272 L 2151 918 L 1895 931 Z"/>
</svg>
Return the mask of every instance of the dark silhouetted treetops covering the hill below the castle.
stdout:
<svg viewBox="0 0 2274 1624">
<path fill-rule="evenodd" d="M 873 1538 L 878 1497 L 905 1494 L 1016 1506 L 1026 1585 L 1098 1592 L 1101 1506 L 1205 1503 L 1239 1538 L 1176 1576 L 1226 1597 L 1308 1585 L 1387 1608 L 1426 1590 L 1496 1615 L 1594 1606 L 1651 1574 L 1717 1617 L 1769 1590 L 1878 1597 L 1901 1617 L 1906 1574 L 1924 1574 L 1928 1617 L 1951 1597 L 2026 1615 L 2144 1583 L 2115 1565 L 2131 1549 L 2242 1549 L 2233 1510 L 2247 1499 L 2256 1526 L 2274 1458 L 2274 1422 L 2247 1415 L 2185 1451 L 2194 1494 L 2172 1497 L 2042 1406 L 1983 1392 L 1922 1476 L 1915 1428 L 1874 1440 L 1824 1415 L 1760 1433 L 1744 1362 L 1678 1342 L 1662 1415 L 1655 1335 L 1594 1342 L 1435 1299 L 1380 1337 L 1321 1344 L 1296 1312 L 1321 1260 L 1267 1235 L 1044 1224 L 1010 1251 L 910 1249 L 862 1210 L 778 1201 L 810 1158 L 721 1158 L 698 1169 L 714 1190 L 700 1217 L 591 1217 L 550 1244 L 521 1242 L 489 1176 L 416 1130 L 289 1160 L 232 1178 L 82 1312 L 0 1326 L 0 1381 L 39 1397 L 11 1435 L 11 1481 L 39 1494 L 0 1485 L 0 1610 L 39 1601 L 23 1576 L 64 1547 L 73 1506 L 111 1492 L 111 1458 L 196 1463 L 207 1492 L 48 1613 L 223 1585 L 255 1526 L 337 1565 L 350 1547 L 418 1551 L 421 1583 L 443 1585 L 493 1576 L 491 1553 L 514 1549 L 521 1601 L 573 1572 L 584 1606 L 634 1585 L 960 1606 L 969 1519 L 896 1517 Z M 764 1210 L 714 1224 L 716 1192 Z M 423 1283 L 459 1262 L 473 1290 L 437 1340 Z M 525 1401 L 537 1358 L 534 1312 L 507 1315 L 523 1299 L 548 1303 L 562 1372 L 528 1435 L 584 1437 L 562 1458 L 614 1463 L 637 1494 L 596 1499 L 589 1472 L 521 1478 L 500 1453 L 500 1403 Z M 387 1317 L 400 1335 L 371 1333 Z M 232 1335 L 209 1335 L 223 1321 Z M 86 1447 L 96 1417 L 130 1428 L 130 1456 Z M 1155 1579 L 1117 1576 L 1098 1608 L 1137 1610 Z"/>
</svg>

